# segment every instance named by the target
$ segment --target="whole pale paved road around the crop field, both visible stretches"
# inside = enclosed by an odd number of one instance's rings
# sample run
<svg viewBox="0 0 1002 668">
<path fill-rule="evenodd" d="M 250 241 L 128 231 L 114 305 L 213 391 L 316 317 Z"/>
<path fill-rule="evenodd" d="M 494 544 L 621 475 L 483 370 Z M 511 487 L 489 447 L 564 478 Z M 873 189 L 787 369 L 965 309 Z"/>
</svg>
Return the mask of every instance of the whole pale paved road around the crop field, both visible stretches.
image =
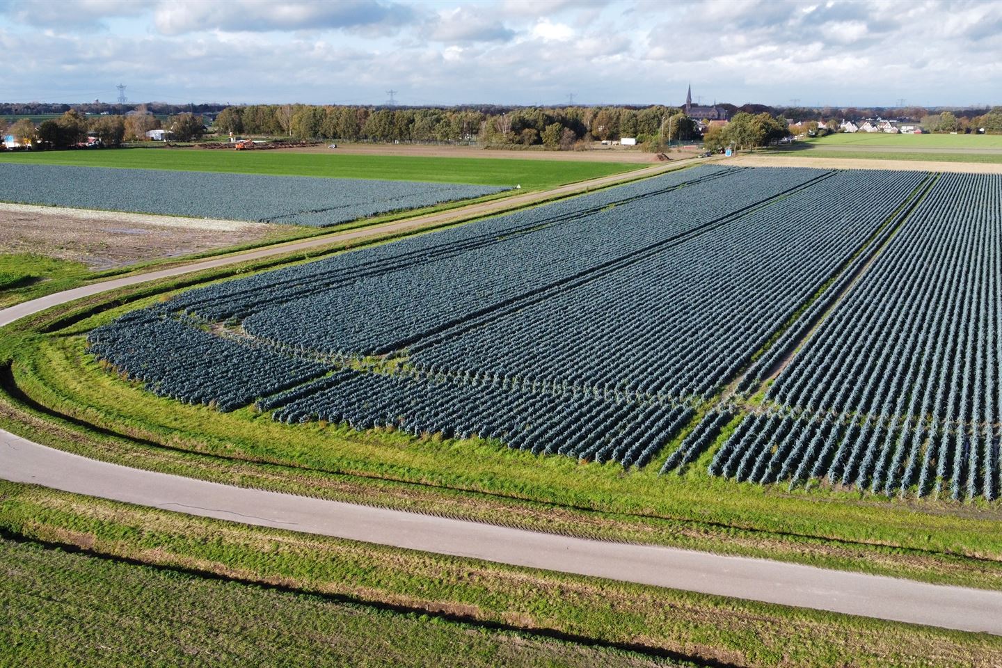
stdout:
<svg viewBox="0 0 1002 668">
<path fill-rule="evenodd" d="M 669 168 L 629 172 L 625 177 Z M 509 207 L 554 194 L 604 185 L 595 179 L 362 230 L 269 247 L 204 262 L 128 276 L 52 294 L 0 310 L 0 325 L 105 290 L 280 252 L 406 229 Z M 445 217 L 440 217 L 445 216 Z M 670 587 L 704 594 L 1002 635 L 1002 592 L 946 587 L 896 578 L 831 571 L 762 559 L 724 557 L 675 548 L 604 543 L 444 519 L 403 511 L 207 483 L 129 469 L 46 448 L 0 430 L 0 478 L 249 525 L 471 557 L 564 573 Z"/>
</svg>

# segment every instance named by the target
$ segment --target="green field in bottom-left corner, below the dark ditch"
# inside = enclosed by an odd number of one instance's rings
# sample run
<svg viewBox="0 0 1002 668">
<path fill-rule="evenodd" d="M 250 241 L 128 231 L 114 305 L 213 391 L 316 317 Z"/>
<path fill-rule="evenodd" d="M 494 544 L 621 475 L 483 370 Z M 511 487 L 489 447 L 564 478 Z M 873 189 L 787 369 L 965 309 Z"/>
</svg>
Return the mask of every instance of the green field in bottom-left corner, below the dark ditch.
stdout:
<svg viewBox="0 0 1002 668">
<path fill-rule="evenodd" d="M 32 542 L 0 562 L 3 666 L 676 665 Z"/>
</svg>

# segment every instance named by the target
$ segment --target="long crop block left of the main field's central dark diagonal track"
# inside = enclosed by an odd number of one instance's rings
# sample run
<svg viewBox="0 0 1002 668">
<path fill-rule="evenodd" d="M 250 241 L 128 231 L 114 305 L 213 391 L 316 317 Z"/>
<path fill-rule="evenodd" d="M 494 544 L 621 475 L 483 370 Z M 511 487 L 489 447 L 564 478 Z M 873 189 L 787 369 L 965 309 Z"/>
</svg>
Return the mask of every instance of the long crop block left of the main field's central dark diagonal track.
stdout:
<svg viewBox="0 0 1002 668">
<path fill-rule="evenodd" d="M 433 261 L 363 276 L 337 289 L 283 299 L 247 315 L 243 327 L 277 345 L 325 355 L 389 353 L 519 300 L 561 293 L 565 283 L 624 260 L 645 266 L 642 253 L 661 252 L 676 242 L 685 245 L 684 239 L 703 226 L 823 173 L 735 171 L 592 211 L 573 224 L 507 235 Z M 548 215 L 546 207 L 536 210 L 541 219 Z M 533 217 L 532 212 L 525 215 Z M 649 273 L 660 270 L 654 267 Z"/>
</svg>

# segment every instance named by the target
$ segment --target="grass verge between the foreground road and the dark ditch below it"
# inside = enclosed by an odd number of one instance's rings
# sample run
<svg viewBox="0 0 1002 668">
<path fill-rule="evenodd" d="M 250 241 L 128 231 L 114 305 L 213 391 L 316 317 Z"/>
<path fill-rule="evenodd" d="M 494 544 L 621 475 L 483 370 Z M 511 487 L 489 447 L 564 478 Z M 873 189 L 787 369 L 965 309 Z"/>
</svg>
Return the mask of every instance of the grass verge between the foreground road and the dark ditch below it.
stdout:
<svg viewBox="0 0 1002 668">
<path fill-rule="evenodd" d="M 992 666 L 1002 657 L 1002 638 L 995 636 L 741 602 L 250 528 L 11 483 L 0 483 L 0 529 L 8 537 L 73 546 L 110 558 L 96 568 L 96 582 L 92 586 L 75 585 L 73 591 L 81 595 L 94 596 L 95 590 L 99 591 L 102 586 L 119 586 L 127 594 L 129 590 L 125 588 L 132 586 L 136 577 L 144 577 L 155 586 L 169 586 L 172 583 L 163 582 L 166 571 L 162 569 L 170 569 L 170 577 L 175 582 L 184 582 L 183 577 L 192 575 L 237 580 L 320 595 L 328 602 L 382 604 L 397 611 L 424 613 L 432 619 L 460 621 L 474 627 L 524 629 L 535 636 L 628 649 L 643 655 L 703 665 Z M 9 541 L 0 545 L 3 545 L 0 552 L 11 554 Z M 31 550 L 37 549 L 29 548 L 22 554 L 37 556 L 37 552 Z M 62 556 L 57 558 L 64 559 Z M 105 574 L 113 573 L 121 560 L 153 565 L 161 570 L 146 571 L 142 576 L 129 575 L 121 585 L 117 585 L 117 580 L 105 585 L 102 579 L 110 577 Z M 13 570 L 9 560 L 4 559 L 3 563 L 8 571 Z M 41 568 L 45 568 L 44 565 Z M 173 575 L 176 570 L 186 575 Z M 53 572 L 57 573 L 57 578 L 70 582 L 74 577 L 72 567 L 56 567 Z M 28 587 L 21 584 L 26 577 L 29 581 L 33 579 L 30 574 L 16 575 L 16 578 L 8 575 L 5 580 L 4 591 L 8 595 L 19 594 Z M 184 582 L 188 583 L 187 596 L 181 601 L 164 600 L 165 609 L 155 614 L 169 622 L 169 617 L 177 617 L 172 613 L 183 611 L 203 592 L 212 591 L 198 581 Z M 67 601 L 70 597 L 65 588 L 54 589 L 62 594 L 55 597 L 55 601 L 25 602 L 22 598 L 20 602 L 15 600 L 17 605 L 7 609 L 13 609 L 18 619 L 24 619 L 20 606 L 41 606 L 45 613 L 42 620 L 53 617 L 58 620 L 60 603 L 65 606 L 62 614 L 66 608 L 72 609 L 72 603 Z M 154 588 L 152 594 L 159 591 Z M 225 596 L 231 591 L 220 587 L 212 593 Z M 288 610 L 271 594 L 262 594 L 242 593 L 243 605 L 257 609 L 273 603 L 282 606 L 277 608 L 280 612 Z M 259 600 L 249 600 L 258 596 Z M 224 600 L 220 598 L 218 602 Z M 320 600 L 311 598 L 309 601 L 320 606 Z M 126 597 L 114 595 L 102 600 L 100 605 L 110 609 L 111 614 L 96 619 L 97 627 L 103 628 L 116 619 L 115 611 L 127 605 L 127 601 Z M 307 607 L 304 604 L 304 608 Z M 194 613 L 194 623 L 185 625 L 190 627 L 187 633 L 194 635 L 199 629 L 217 628 L 211 626 L 211 622 L 213 612 L 218 609 L 216 604 L 200 615 Z M 35 615 L 28 619 L 32 624 L 37 623 Z M 255 620 L 228 615 L 225 631 L 218 632 L 217 637 L 221 638 L 222 633 L 226 637 L 239 636 L 239 633 L 229 633 L 233 624 L 240 630 L 250 626 L 247 630 L 253 637 L 277 632 L 275 629 L 259 631 L 254 627 Z M 273 624 L 278 626 L 281 622 Z M 316 625 L 307 628 L 321 630 Z M 176 631 L 176 621 L 168 623 L 167 629 Z M 183 629 L 178 632 L 184 637 Z M 128 633 L 128 628 L 115 629 L 112 633 L 120 637 Z M 370 644 L 378 641 L 372 635 L 368 638 Z M 236 642 L 235 637 L 232 642 Z M 303 639 L 302 642 L 308 641 Z M 381 651 L 378 646 L 368 649 Z M 404 651 L 408 653 L 405 656 L 409 656 L 410 652 L 418 650 L 405 647 Z M 559 661 L 555 663 L 565 665 Z"/>
</svg>

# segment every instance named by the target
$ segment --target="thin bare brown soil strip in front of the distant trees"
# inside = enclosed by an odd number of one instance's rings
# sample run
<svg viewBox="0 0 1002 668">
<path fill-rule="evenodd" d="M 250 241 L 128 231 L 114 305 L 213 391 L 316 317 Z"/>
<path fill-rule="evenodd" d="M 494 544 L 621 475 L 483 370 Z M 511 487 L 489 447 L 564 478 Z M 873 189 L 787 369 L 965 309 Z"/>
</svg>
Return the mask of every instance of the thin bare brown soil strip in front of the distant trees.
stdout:
<svg viewBox="0 0 1002 668">
<path fill-rule="evenodd" d="M 588 151 L 504 150 L 479 146 L 445 146 L 435 144 L 343 144 L 337 148 L 305 146 L 278 149 L 285 153 L 349 153 L 354 155 L 403 155 L 413 157 L 478 157 L 514 160 L 566 160 L 570 162 L 658 162 L 654 153 L 629 148 L 596 148 Z M 673 150 L 672 160 L 694 157 L 695 151 Z"/>
</svg>

